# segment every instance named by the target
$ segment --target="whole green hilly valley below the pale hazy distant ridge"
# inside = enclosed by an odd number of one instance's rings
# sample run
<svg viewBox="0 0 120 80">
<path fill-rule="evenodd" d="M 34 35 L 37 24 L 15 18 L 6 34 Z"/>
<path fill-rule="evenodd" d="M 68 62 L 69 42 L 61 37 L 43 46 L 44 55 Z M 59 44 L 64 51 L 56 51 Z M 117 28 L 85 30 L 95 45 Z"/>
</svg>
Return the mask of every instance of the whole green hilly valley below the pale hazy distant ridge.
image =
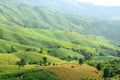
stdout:
<svg viewBox="0 0 120 80">
<path fill-rule="evenodd" d="M 0 1 L 0 80 L 120 79 L 119 20 L 35 1 Z"/>
</svg>

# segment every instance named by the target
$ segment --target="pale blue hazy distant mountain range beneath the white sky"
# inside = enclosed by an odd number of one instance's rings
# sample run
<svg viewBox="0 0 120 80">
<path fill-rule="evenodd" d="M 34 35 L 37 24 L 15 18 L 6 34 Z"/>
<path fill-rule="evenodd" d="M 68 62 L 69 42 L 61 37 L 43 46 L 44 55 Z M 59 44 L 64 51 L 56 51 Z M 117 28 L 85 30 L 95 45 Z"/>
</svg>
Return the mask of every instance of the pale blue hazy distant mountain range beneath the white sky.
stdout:
<svg viewBox="0 0 120 80">
<path fill-rule="evenodd" d="M 77 0 L 25 0 L 24 2 L 43 6 L 65 15 L 120 20 L 120 6 L 97 6 Z"/>
</svg>

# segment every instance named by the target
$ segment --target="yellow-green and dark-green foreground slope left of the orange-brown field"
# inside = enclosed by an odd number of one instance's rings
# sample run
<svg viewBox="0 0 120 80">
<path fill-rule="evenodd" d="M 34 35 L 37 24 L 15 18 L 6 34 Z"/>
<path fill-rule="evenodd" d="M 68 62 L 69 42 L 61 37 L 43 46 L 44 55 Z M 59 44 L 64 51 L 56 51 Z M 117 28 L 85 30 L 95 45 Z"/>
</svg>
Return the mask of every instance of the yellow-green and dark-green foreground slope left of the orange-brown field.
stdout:
<svg viewBox="0 0 120 80">
<path fill-rule="evenodd" d="M 26 65 L 18 69 L 18 66 L 0 66 L 0 80 L 21 80 L 21 75 L 25 80 L 59 80 L 58 75 L 40 66 Z"/>
</svg>

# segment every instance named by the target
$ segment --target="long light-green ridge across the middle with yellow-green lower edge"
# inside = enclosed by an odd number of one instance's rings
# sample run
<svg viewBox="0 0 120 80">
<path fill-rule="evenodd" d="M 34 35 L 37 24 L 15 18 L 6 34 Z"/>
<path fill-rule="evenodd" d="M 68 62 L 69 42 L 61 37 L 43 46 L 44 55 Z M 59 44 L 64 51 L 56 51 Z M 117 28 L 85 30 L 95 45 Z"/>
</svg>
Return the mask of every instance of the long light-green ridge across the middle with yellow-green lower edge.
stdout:
<svg viewBox="0 0 120 80">
<path fill-rule="evenodd" d="M 4 25 L 1 25 L 0 30 L 1 49 L 3 51 L 5 51 L 5 49 L 9 49 L 11 45 L 14 45 L 18 50 L 22 49 L 22 47 L 25 48 L 30 46 L 36 48 L 62 46 L 65 48 L 86 49 L 91 53 L 95 53 L 95 50 L 99 45 L 103 45 L 111 49 L 117 49 L 117 47 L 111 45 L 105 39 L 101 40 L 101 38 L 97 38 L 97 36 L 96 39 L 93 39 L 74 32 L 60 30 L 53 32 L 51 29 L 13 28 Z M 4 45 L 5 42 L 7 42 L 6 45 Z"/>
</svg>

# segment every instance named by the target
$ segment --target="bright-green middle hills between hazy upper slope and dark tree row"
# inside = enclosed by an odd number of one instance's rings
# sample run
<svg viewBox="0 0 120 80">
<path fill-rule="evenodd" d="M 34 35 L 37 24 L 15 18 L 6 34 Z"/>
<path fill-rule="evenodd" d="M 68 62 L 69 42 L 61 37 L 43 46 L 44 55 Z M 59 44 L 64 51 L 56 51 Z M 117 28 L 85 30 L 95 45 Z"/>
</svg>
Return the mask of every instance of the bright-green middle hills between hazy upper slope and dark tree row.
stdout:
<svg viewBox="0 0 120 80">
<path fill-rule="evenodd" d="M 82 58 L 81 50 L 95 55 L 102 52 L 106 56 L 112 55 L 114 50 L 119 50 L 104 37 L 96 35 L 83 35 L 66 30 L 10 27 L 2 24 L 0 30 L 0 51 L 2 53 L 9 53 L 11 47 L 18 52 L 32 49 L 37 53 L 44 48 L 51 56 L 67 59 L 68 56 Z"/>
</svg>

